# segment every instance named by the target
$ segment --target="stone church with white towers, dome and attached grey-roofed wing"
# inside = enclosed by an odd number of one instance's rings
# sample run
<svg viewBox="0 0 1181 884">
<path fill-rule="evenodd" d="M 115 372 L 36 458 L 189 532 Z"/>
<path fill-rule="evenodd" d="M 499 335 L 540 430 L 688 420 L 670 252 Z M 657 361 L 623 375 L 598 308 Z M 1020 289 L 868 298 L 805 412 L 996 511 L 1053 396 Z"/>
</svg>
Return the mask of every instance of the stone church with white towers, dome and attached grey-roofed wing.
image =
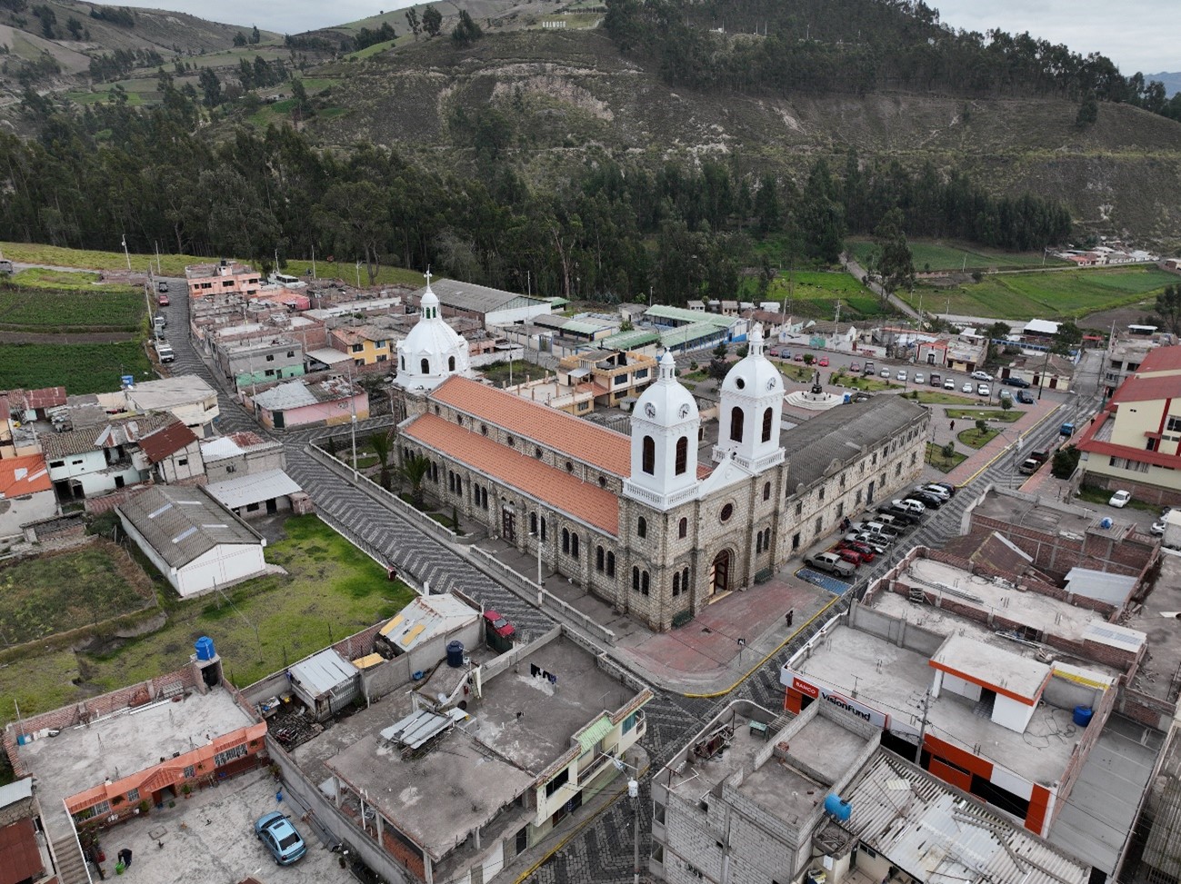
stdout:
<svg viewBox="0 0 1181 884">
<path fill-rule="evenodd" d="M 667 630 L 769 578 L 922 469 L 928 413 L 899 397 L 782 431 L 784 378 L 763 347 L 756 326 L 722 384 L 702 463 L 702 415 L 671 353 L 625 436 L 474 380 L 428 279 L 398 345 L 398 458 L 426 458 L 429 492 L 466 522 L 523 554 L 540 544 L 549 569 Z"/>
</svg>

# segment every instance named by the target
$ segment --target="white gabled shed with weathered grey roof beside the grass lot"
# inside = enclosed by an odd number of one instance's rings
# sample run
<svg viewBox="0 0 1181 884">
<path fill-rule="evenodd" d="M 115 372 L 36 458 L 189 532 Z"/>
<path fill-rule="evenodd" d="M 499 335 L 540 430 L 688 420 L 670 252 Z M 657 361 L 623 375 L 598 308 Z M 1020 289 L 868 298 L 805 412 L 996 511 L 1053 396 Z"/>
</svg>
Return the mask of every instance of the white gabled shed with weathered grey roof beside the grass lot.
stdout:
<svg viewBox="0 0 1181 884">
<path fill-rule="evenodd" d="M 266 538 L 201 487 L 157 485 L 128 498 L 116 512 L 182 597 L 266 572 Z"/>
</svg>

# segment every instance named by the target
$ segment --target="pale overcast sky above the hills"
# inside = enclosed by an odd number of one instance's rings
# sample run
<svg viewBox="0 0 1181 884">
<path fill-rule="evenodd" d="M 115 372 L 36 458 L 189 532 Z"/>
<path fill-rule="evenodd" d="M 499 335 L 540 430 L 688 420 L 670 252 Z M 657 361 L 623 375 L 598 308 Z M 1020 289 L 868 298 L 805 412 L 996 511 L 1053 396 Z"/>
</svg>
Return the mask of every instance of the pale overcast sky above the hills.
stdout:
<svg viewBox="0 0 1181 884">
<path fill-rule="evenodd" d="M 231 25 L 299 33 L 355 21 L 379 11 L 400 9 L 412 0 L 115 0 L 118 6 L 148 6 L 188 12 Z M 1035 38 L 1065 44 L 1079 54 L 1100 52 L 1130 76 L 1181 71 L 1176 37 L 1176 0 L 926 0 L 944 24 L 985 33 L 1029 31 Z"/>
</svg>

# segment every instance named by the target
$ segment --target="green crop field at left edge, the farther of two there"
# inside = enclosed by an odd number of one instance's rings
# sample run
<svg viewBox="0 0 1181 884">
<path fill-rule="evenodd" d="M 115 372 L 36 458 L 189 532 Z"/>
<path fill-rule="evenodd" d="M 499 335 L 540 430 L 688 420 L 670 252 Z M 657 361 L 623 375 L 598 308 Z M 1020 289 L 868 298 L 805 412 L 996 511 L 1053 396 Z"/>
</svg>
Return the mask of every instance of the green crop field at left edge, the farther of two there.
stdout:
<svg viewBox="0 0 1181 884">
<path fill-rule="evenodd" d="M 22 276 L 24 274 L 21 274 Z M 143 322 L 143 292 L 0 288 L 0 329 L 9 332 L 135 332 Z"/>
</svg>

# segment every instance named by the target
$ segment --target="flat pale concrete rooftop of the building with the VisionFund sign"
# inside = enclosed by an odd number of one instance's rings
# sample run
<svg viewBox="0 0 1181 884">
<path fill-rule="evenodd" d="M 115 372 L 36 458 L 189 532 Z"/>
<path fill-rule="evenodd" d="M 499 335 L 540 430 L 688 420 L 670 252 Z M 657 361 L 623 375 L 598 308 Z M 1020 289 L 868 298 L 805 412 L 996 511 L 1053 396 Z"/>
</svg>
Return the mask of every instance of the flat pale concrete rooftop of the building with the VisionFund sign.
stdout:
<svg viewBox="0 0 1181 884">
<path fill-rule="evenodd" d="M 797 662 L 797 672 L 889 715 L 902 729 L 915 734 L 924 695 L 935 670 L 922 654 L 893 642 L 839 626 Z M 854 693 L 855 692 L 855 693 Z M 927 731 L 966 752 L 991 759 L 1033 782 L 1055 782 L 1070 760 L 1081 734 L 1071 726 L 1070 711 L 1045 705 L 1033 713 L 1019 734 L 977 715 L 974 703 L 951 692 L 932 698 Z"/>
</svg>

